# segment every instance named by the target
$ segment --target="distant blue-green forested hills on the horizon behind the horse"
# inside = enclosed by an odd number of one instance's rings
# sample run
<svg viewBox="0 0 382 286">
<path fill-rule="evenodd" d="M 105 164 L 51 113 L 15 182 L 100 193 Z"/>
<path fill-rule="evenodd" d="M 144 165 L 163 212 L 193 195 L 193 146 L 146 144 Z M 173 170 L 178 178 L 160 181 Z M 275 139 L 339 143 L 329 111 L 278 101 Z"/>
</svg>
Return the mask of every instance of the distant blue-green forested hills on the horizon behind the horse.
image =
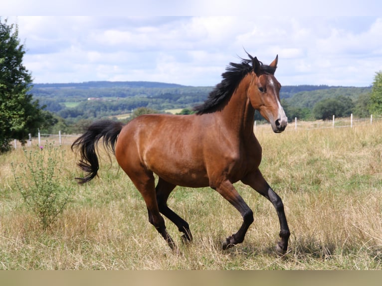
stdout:
<svg viewBox="0 0 382 286">
<path fill-rule="evenodd" d="M 46 110 L 76 122 L 131 113 L 140 107 L 158 111 L 191 109 L 205 101 L 213 87 L 194 87 L 161 82 L 108 82 L 34 84 L 31 93 Z M 354 104 L 370 87 L 331 87 L 326 85 L 283 86 L 280 98 L 290 116 L 309 117 L 315 104 L 327 98 L 345 96 Z M 297 110 L 296 113 L 296 108 Z M 305 110 L 301 110 L 305 109 Z M 292 117 L 291 117 L 292 118 Z"/>
</svg>

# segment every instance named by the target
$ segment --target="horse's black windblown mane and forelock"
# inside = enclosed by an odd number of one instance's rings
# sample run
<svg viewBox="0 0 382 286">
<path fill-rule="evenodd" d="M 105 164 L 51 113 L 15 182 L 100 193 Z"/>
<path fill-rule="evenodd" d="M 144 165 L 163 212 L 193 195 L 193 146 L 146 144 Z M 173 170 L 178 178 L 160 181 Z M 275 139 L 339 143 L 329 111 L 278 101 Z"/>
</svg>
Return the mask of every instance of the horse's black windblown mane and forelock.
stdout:
<svg viewBox="0 0 382 286">
<path fill-rule="evenodd" d="M 240 63 L 229 63 L 225 69 L 225 72 L 221 74 L 223 79 L 209 93 L 206 101 L 203 104 L 193 108 L 197 115 L 217 111 L 218 107 L 221 106 L 221 103 L 232 96 L 240 81 L 249 72 L 254 70 L 254 58 L 250 54 L 248 54 L 248 56 L 249 59 L 240 58 Z M 276 68 L 268 65 L 263 65 L 263 63 L 260 61 L 259 63 L 261 73 L 274 74 Z"/>
</svg>

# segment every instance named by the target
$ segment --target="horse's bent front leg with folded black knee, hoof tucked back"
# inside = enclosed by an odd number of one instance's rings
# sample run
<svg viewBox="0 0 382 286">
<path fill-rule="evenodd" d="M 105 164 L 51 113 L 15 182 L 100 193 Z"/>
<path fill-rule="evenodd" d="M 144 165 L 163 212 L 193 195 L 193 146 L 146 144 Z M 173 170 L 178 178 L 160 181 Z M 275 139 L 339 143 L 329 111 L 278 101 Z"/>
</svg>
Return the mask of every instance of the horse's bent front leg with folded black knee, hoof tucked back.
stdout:
<svg viewBox="0 0 382 286">
<path fill-rule="evenodd" d="M 243 217 L 243 223 L 240 229 L 235 234 L 227 237 L 223 242 L 222 248 L 225 250 L 234 246 L 235 244 L 242 243 L 244 241 L 245 234 L 253 222 L 253 212 L 244 202 L 243 198 L 239 195 L 230 181 L 223 181 L 218 187 L 214 189 L 216 189 L 220 195 L 222 195 L 228 202 L 230 202 Z"/>
</svg>

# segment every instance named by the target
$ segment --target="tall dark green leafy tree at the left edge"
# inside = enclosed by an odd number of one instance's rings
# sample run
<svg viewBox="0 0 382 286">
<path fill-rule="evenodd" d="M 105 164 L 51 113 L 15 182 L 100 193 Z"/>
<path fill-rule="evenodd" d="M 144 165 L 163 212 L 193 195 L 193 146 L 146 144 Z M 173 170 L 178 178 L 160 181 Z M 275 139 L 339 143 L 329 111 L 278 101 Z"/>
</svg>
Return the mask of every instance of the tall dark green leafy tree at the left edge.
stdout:
<svg viewBox="0 0 382 286">
<path fill-rule="evenodd" d="M 24 143 L 52 118 L 29 93 L 32 77 L 22 64 L 24 54 L 17 25 L 0 18 L 0 153 L 9 150 L 10 140 Z"/>
</svg>

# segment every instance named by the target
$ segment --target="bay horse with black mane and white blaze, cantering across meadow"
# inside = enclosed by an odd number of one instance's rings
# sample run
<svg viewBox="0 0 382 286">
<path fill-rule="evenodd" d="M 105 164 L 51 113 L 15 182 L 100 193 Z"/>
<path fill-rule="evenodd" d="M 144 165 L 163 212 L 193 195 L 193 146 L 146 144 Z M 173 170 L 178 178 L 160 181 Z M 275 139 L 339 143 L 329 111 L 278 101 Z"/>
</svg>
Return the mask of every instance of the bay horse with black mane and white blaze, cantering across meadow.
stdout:
<svg viewBox="0 0 382 286">
<path fill-rule="evenodd" d="M 247 53 L 247 52 L 246 52 Z M 233 183 L 242 181 L 271 201 L 280 222 L 279 255 L 286 253 L 290 236 L 284 205 L 259 170 L 262 149 L 254 132 L 254 114 L 260 114 L 275 133 L 287 126 L 280 104 L 280 83 L 274 73 L 278 56 L 264 65 L 247 53 L 249 59 L 229 63 L 222 81 L 209 93 L 206 101 L 191 115 L 142 115 L 123 125 L 111 120 L 93 123 L 73 144 L 80 153 L 78 166 L 87 174 L 79 183 L 93 179 L 99 164 L 97 143 L 113 152 L 118 164 L 142 194 L 149 216 L 167 244 L 177 246 L 166 230 L 161 213 L 191 242 L 189 224 L 167 205 L 174 188 L 209 186 L 230 202 L 241 214 L 239 230 L 222 242 L 225 250 L 243 242 L 253 222 L 253 212 L 238 194 Z M 154 173 L 158 175 L 155 186 Z"/>
</svg>

